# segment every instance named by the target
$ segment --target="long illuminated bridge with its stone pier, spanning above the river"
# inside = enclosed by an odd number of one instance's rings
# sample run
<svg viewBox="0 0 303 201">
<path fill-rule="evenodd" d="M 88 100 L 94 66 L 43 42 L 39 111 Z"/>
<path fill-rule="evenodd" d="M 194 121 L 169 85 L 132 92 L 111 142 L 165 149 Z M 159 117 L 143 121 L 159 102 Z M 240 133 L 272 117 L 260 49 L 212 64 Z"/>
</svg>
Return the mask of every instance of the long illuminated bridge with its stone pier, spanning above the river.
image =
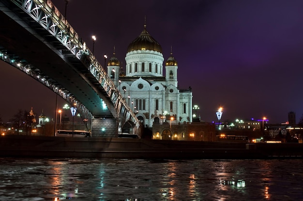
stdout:
<svg viewBox="0 0 303 201">
<path fill-rule="evenodd" d="M 0 59 L 77 109 L 93 136 L 140 123 L 106 71 L 50 0 L 0 0 Z"/>
</svg>

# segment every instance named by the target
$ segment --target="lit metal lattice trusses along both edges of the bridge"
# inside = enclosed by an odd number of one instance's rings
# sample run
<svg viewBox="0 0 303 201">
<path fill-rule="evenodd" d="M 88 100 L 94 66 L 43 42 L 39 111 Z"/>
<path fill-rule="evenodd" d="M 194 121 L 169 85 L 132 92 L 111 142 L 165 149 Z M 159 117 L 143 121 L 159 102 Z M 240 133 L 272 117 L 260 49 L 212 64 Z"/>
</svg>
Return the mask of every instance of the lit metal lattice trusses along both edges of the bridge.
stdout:
<svg viewBox="0 0 303 201">
<path fill-rule="evenodd" d="M 112 117 L 117 119 L 118 130 L 121 130 L 126 121 L 132 121 L 136 128 L 140 126 L 136 115 L 123 99 L 114 83 L 108 78 L 103 67 L 87 48 L 86 43 L 80 39 L 76 31 L 50 0 L 0 0 L 0 9 L 1 12 L 9 15 L 32 34 L 36 34 L 33 31 L 37 29 L 44 29 L 43 31 L 48 33 L 47 37 L 51 36 L 52 40 L 55 39 L 56 43 L 52 43 L 56 48 L 54 51 L 60 51 L 60 55 L 65 62 L 71 64 L 74 68 L 78 68 L 78 72 L 83 72 L 83 68 L 85 68 L 86 72 L 89 72 L 89 75 L 86 75 L 88 80 L 98 85 L 98 87 L 101 86 L 104 95 L 108 97 L 108 99 L 103 101 L 106 103 Z M 18 11 L 19 16 L 14 14 L 15 11 L 12 12 L 12 10 L 16 9 L 20 9 Z M 20 16 L 20 14 L 27 14 L 26 18 L 30 17 L 30 20 L 28 22 L 25 21 L 22 19 L 25 17 Z M 29 21 L 31 20 L 35 24 L 38 23 L 40 27 L 29 28 Z M 38 80 L 76 107 L 87 128 L 91 129 L 92 118 L 98 116 L 92 115 L 91 111 L 70 90 L 58 84 L 47 73 L 41 71 L 39 66 L 30 64 L 27 60 L 7 51 L 5 47 L 0 47 L 0 59 Z"/>
</svg>

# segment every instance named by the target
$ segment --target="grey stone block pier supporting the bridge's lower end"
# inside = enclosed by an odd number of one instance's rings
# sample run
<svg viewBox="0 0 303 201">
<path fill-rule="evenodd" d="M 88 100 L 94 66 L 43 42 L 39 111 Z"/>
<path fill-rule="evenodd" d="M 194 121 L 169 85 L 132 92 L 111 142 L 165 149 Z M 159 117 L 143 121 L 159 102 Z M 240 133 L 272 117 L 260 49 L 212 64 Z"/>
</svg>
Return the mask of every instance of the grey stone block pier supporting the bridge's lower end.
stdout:
<svg viewBox="0 0 303 201">
<path fill-rule="evenodd" d="M 117 119 L 91 119 L 92 137 L 117 137 Z"/>
</svg>

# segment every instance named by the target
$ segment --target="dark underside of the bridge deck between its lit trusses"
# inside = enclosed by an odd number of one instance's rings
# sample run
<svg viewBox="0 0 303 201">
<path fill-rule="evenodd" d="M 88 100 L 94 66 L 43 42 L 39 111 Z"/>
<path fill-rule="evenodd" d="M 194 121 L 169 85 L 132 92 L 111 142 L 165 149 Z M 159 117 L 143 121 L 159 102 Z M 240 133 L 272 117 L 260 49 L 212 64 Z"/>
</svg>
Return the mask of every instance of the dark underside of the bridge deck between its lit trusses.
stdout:
<svg viewBox="0 0 303 201">
<path fill-rule="evenodd" d="M 0 50 L 16 60 L 28 62 L 35 67 L 31 71 L 62 89 L 68 89 L 95 118 L 116 118 L 117 112 L 110 97 L 83 63 L 61 42 L 54 40 L 47 30 L 41 29 L 36 21 L 22 14 L 21 10 L 18 12 L 22 20 L 0 12 Z"/>
</svg>

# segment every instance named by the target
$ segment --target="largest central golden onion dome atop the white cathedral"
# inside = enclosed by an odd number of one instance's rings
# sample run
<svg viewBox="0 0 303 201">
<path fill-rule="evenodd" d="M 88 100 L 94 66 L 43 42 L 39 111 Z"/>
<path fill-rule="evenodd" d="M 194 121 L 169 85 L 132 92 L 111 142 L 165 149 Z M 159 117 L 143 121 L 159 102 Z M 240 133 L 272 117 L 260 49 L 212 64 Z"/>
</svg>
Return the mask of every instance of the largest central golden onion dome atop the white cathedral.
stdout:
<svg viewBox="0 0 303 201">
<path fill-rule="evenodd" d="M 148 33 L 146 25 L 141 34 L 128 45 L 127 52 L 135 50 L 153 50 L 162 53 L 161 45 Z"/>
</svg>

